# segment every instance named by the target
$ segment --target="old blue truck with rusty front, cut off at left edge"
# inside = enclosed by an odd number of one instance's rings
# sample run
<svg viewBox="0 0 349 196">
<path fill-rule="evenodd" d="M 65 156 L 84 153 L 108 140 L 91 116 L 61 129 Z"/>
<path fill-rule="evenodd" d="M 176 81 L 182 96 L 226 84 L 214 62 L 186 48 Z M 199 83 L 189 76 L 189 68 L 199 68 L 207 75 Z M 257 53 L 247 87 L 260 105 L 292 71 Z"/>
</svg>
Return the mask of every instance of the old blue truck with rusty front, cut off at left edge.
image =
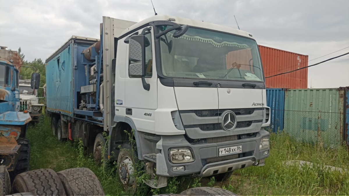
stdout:
<svg viewBox="0 0 349 196">
<path fill-rule="evenodd" d="M 40 74 L 33 73 L 31 88 L 38 89 L 39 81 Z M 0 166 L 7 167 L 11 181 L 29 168 L 30 145 L 25 134 L 31 117 L 28 111 L 20 112 L 18 86 L 18 69 L 0 59 Z"/>
</svg>

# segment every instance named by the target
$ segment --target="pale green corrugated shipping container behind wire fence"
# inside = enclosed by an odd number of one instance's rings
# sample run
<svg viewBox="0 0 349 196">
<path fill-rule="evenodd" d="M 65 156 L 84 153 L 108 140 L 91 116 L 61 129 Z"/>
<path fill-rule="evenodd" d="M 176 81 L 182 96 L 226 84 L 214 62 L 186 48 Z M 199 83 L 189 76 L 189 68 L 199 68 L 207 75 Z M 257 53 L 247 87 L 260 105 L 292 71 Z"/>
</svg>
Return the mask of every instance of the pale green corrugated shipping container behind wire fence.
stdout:
<svg viewBox="0 0 349 196">
<path fill-rule="evenodd" d="M 344 140 L 344 88 L 285 92 L 284 131 L 298 141 L 336 148 Z"/>
</svg>

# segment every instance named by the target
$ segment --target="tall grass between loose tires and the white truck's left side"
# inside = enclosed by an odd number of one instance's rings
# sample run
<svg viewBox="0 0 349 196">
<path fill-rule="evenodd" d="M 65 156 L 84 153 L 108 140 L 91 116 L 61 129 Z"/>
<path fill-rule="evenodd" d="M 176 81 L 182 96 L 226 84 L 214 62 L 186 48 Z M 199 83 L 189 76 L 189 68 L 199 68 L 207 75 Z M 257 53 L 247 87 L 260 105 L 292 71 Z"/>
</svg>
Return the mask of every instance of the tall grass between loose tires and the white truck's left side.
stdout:
<svg viewBox="0 0 349 196">
<path fill-rule="evenodd" d="M 82 143 L 58 141 L 52 134 L 47 116 L 29 127 L 27 138 L 31 145 L 30 170 L 51 168 L 58 172 L 74 167 L 87 167 L 96 174 L 106 195 L 126 194 L 115 166 L 98 166 L 92 157 L 85 155 Z"/>
</svg>

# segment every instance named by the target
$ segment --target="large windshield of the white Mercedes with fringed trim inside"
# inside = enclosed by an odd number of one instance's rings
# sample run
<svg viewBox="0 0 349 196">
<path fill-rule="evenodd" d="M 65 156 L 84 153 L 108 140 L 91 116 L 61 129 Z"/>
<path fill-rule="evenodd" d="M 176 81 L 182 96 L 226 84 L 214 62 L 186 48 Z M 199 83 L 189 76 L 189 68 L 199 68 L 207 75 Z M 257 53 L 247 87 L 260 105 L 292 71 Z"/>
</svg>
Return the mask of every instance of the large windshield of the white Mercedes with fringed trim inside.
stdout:
<svg viewBox="0 0 349 196">
<path fill-rule="evenodd" d="M 164 76 L 263 82 L 254 40 L 196 28 L 179 38 L 173 38 L 174 32 L 161 36 Z"/>
</svg>

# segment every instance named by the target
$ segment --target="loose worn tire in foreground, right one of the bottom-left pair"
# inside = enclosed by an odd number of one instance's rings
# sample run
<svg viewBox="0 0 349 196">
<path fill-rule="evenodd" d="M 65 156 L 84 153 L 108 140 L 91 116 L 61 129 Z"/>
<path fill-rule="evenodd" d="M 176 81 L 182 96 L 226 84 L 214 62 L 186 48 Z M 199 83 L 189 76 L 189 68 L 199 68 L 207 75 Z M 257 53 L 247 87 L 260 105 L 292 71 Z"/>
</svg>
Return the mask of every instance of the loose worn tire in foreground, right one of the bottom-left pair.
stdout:
<svg viewBox="0 0 349 196">
<path fill-rule="evenodd" d="M 67 195 L 104 195 L 97 176 L 86 167 L 57 172 Z"/>
</svg>

